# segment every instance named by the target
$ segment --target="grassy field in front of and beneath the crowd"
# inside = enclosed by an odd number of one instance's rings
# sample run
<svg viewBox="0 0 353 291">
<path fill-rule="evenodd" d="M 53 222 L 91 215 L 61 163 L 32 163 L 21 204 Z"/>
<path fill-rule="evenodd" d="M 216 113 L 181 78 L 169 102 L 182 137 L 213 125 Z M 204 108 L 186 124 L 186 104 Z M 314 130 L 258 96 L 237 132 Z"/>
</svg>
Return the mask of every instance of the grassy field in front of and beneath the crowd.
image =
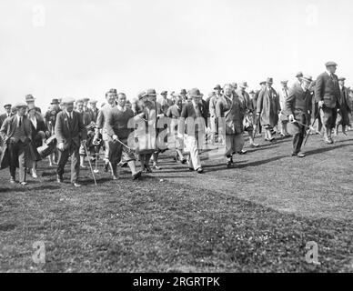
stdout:
<svg viewBox="0 0 353 291">
<path fill-rule="evenodd" d="M 327 146 L 311 135 L 304 159 L 291 139 L 207 159 L 197 175 L 161 156 L 160 171 L 112 181 L 88 170 L 82 186 L 39 164 L 26 187 L 0 172 L 1 272 L 352 272 L 353 132 Z M 66 178 L 68 178 L 66 174 Z M 32 259 L 45 243 L 45 264 Z M 318 244 L 320 265 L 305 260 Z"/>
</svg>

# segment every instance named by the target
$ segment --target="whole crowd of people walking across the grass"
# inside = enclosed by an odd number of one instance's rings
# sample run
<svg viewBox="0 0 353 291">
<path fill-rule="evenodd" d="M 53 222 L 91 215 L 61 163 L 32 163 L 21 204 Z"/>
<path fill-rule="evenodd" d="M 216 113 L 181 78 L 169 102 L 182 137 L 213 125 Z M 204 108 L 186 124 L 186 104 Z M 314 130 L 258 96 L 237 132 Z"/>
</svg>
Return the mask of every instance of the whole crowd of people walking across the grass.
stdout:
<svg viewBox="0 0 353 291">
<path fill-rule="evenodd" d="M 114 180 L 120 166 L 128 166 L 136 180 L 159 170 L 158 155 L 169 148 L 176 162 L 202 174 L 199 156 L 205 144 L 223 145 L 225 166 L 231 167 L 235 154 L 247 153 L 245 133 L 249 146 L 257 148 L 255 137 L 262 131 L 269 143 L 276 135 L 293 136 L 291 155 L 304 157 L 301 147 L 310 131 L 333 144 L 339 127 L 347 135 L 351 126 L 353 87 L 345 85 L 336 69 L 336 63 L 328 62 L 316 80 L 299 72 L 295 84 L 289 88 L 282 80 L 279 90 L 271 77 L 257 90 L 248 91 L 247 82 L 241 82 L 216 85 L 207 96 L 193 88 L 169 97 L 162 91 L 157 98 L 155 89 L 147 89 L 132 102 L 110 89 L 100 108 L 95 99 L 62 98 L 42 112 L 35 97 L 26 95 L 25 103 L 5 104 L 0 115 L 1 169 L 9 167 L 14 184 L 19 168 L 19 183 L 25 186 L 26 175 L 36 179 L 38 161 L 47 158 L 49 166 L 56 166 L 57 183 L 63 183 L 70 158 L 71 183 L 78 187 L 80 168 L 88 162 L 94 175 L 92 165 L 103 151 L 104 171 Z"/>
</svg>

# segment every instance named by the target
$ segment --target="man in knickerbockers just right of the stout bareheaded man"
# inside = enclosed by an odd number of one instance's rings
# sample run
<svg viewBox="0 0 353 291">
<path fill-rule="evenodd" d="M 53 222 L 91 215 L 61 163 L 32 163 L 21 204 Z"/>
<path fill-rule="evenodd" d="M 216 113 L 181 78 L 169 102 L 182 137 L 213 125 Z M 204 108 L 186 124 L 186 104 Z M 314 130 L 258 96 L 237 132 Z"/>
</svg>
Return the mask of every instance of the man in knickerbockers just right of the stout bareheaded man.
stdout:
<svg viewBox="0 0 353 291">
<path fill-rule="evenodd" d="M 254 142 L 253 133 L 254 133 L 254 125 L 253 125 L 253 115 L 255 115 L 255 109 L 253 103 L 250 99 L 250 96 L 247 94 L 247 82 L 243 81 L 239 84 L 239 89 L 237 89 L 237 95 L 242 100 L 242 102 L 246 105 L 246 113 L 244 115 L 244 131 L 247 131 L 249 137 L 249 143 L 251 147 L 257 147 L 258 144 Z M 239 152 L 240 155 L 246 154 L 247 151 L 241 149 Z"/>
</svg>

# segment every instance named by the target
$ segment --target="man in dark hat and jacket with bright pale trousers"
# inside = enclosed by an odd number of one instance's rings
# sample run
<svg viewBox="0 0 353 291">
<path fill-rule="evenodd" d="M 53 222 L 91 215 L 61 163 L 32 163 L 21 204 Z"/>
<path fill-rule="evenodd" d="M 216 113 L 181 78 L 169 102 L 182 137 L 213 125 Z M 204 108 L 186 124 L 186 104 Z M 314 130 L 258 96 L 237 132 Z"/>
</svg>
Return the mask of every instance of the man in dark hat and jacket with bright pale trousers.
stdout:
<svg viewBox="0 0 353 291">
<path fill-rule="evenodd" d="M 202 103 L 202 94 L 197 88 L 193 88 L 188 93 L 191 101 L 183 106 L 178 125 L 178 144 L 182 148 L 184 145 L 184 135 L 186 134 L 187 150 L 190 153 L 188 167 L 190 171 L 197 171 L 198 174 L 204 172 L 198 150 L 206 144 L 207 110 Z M 187 122 L 187 127 L 185 126 Z"/>
</svg>

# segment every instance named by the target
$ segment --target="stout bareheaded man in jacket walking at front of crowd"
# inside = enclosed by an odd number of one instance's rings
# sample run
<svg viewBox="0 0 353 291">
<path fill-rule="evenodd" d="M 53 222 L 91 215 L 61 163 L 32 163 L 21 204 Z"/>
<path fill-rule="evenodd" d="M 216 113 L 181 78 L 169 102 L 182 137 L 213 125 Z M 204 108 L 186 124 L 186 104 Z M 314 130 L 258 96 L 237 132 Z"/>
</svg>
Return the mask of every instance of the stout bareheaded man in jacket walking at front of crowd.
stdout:
<svg viewBox="0 0 353 291">
<path fill-rule="evenodd" d="M 219 98 L 216 105 L 219 116 L 219 132 L 226 139 L 227 167 L 233 164 L 233 154 L 244 147 L 244 117 L 247 110 L 246 100 L 234 91 L 234 87 L 226 84 L 224 95 Z"/>
</svg>

